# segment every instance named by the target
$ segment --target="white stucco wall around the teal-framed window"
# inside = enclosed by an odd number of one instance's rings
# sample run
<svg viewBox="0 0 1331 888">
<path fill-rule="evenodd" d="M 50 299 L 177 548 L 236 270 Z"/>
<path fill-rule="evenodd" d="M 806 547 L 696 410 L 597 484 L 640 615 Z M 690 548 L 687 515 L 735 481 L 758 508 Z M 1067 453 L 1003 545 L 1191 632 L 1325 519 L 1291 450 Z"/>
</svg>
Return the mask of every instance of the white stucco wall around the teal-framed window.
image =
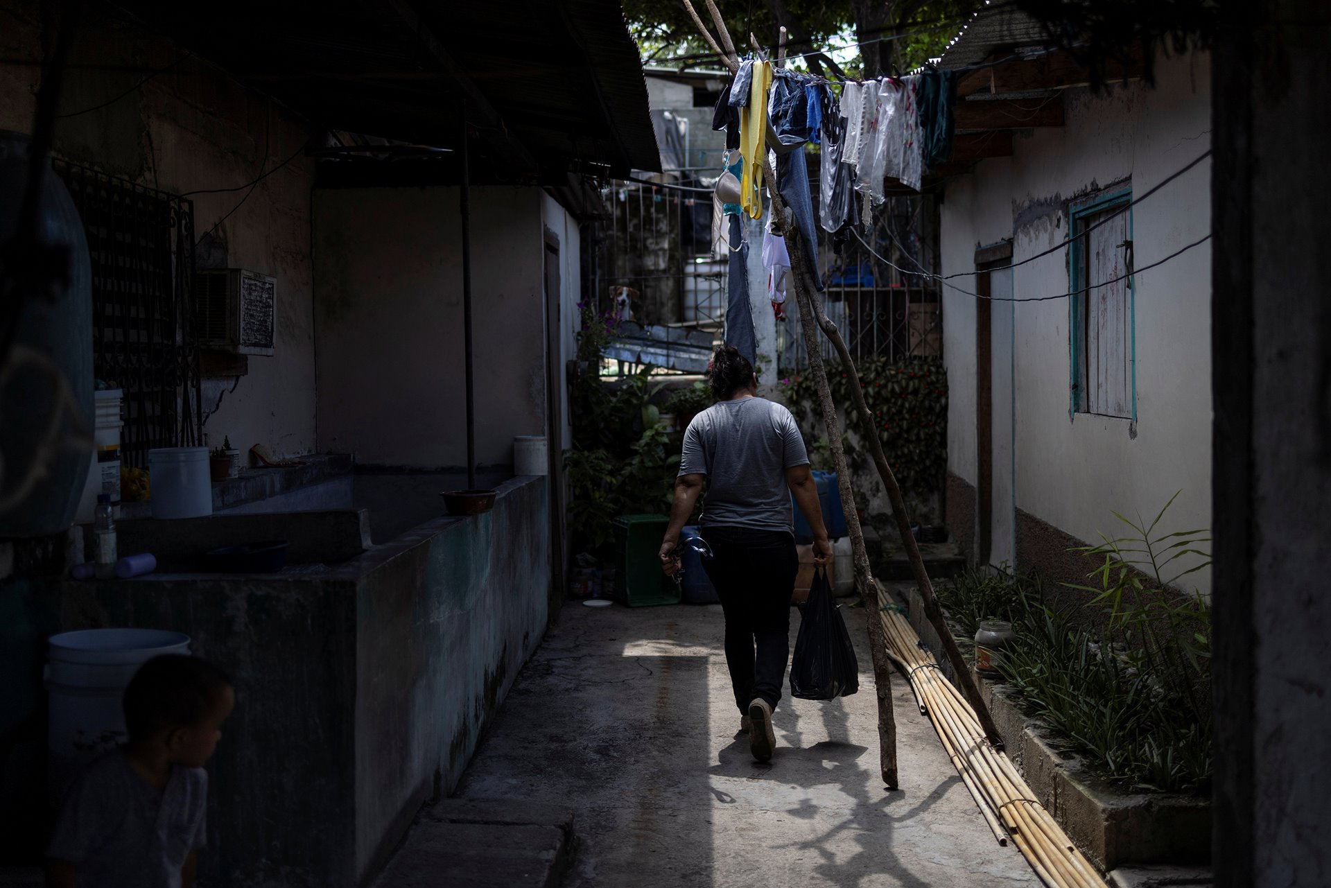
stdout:
<svg viewBox="0 0 1331 888">
<path fill-rule="evenodd" d="M 1002 238 L 1013 238 L 1017 262 L 1054 246 L 1066 237 L 1067 201 L 1127 181 L 1139 197 L 1205 152 L 1209 59 L 1161 59 L 1155 76 L 1154 89 L 1135 84 L 1107 96 L 1066 91 L 1065 126 L 1018 132 L 1012 157 L 985 160 L 949 182 L 941 208 L 944 274 L 973 272 L 976 248 Z M 1210 162 L 1135 206 L 1131 226 L 1135 268 L 1206 234 Z M 973 277 L 953 284 L 976 289 Z M 1017 298 L 1069 289 L 1066 250 L 1014 269 Z M 1169 530 L 1210 525 L 1210 292 L 1209 244 L 1135 274 L 1135 430 L 1129 419 L 1069 414 L 1067 300 L 1016 305 L 1016 403 L 994 403 L 996 415 L 1013 410 L 1016 418 L 1016 507 L 1098 542 L 1098 530 L 1118 531 L 1111 510 L 1154 514 L 1181 490 L 1165 522 Z M 976 300 L 945 290 L 944 318 L 949 470 L 974 485 Z M 996 421 L 996 434 L 998 429 Z M 1010 469 L 996 458 L 996 477 L 1000 471 Z M 1207 571 L 1189 579 L 1210 588 Z"/>
</svg>

